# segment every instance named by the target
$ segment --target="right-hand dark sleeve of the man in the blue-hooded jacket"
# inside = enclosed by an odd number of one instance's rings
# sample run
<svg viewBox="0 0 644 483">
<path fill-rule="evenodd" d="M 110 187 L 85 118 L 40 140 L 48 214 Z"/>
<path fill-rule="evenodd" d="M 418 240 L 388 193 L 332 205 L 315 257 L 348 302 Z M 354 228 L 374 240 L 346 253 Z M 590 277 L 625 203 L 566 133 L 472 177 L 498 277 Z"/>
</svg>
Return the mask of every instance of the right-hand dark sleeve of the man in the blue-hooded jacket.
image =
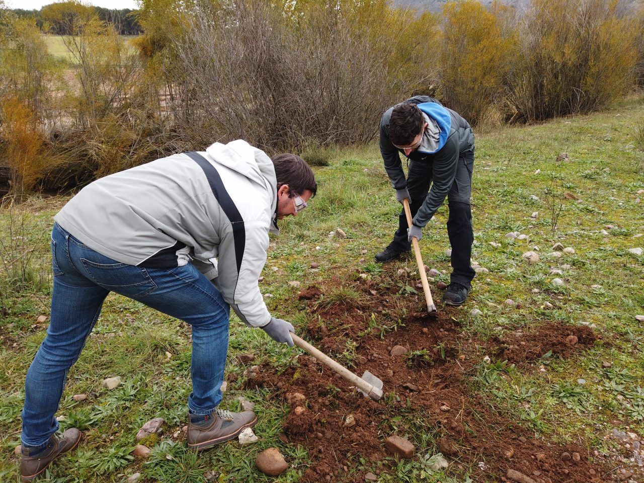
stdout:
<svg viewBox="0 0 644 483">
<path fill-rule="evenodd" d="M 424 227 L 434 216 L 437 209 L 445 201 L 451 185 L 456 177 L 456 169 L 459 164 L 459 134 L 453 133 L 434 156 L 431 171 L 430 193 L 424 203 L 413 217 L 412 223 L 417 227 Z"/>
</svg>

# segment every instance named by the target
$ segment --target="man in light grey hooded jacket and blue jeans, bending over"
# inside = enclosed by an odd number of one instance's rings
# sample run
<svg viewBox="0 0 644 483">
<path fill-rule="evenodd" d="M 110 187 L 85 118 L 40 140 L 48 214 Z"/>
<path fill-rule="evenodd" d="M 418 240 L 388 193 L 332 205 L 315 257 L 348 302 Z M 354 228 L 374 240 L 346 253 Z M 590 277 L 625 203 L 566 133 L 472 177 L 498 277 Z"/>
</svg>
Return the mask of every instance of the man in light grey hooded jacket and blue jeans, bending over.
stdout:
<svg viewBox="0 0 644 483">
<path fill-rule="evenodd" d="M 187 443 L 194 450 L 254 426 L 252 411 L 219 410 L 229 307 L 249 327 L 293 345 L 290 323 L 272 317 L 258 278 L 269 231 L 317 191 L 296 155 L 272 160 L 243 140 L 158 159 L 97 180 L 55 216 L 50 326 L 25 381 L 21 473 L 37 478 L 81 434 L 57 430 L 55 413 L 109 292 L 192 326 Z"/>
</svg>

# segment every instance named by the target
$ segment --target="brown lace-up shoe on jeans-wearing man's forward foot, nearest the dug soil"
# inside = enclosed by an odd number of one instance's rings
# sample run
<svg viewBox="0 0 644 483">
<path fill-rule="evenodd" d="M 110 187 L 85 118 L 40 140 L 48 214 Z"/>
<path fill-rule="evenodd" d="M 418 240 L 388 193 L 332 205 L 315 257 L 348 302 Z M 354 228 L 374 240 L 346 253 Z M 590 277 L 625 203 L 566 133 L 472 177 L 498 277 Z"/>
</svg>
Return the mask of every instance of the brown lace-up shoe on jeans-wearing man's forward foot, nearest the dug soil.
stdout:
<svg viewBox="0 0 644 483">
<path fill-rule="evenodd" d="M 215 444 L 236 438 L 246 428 L 252 428 L 257 416 L 252 411 L 233 413 L 220 409 L 205 416 L 191 416 L 188 423 L 188 448 L 201 451 Z"/>
</svg>

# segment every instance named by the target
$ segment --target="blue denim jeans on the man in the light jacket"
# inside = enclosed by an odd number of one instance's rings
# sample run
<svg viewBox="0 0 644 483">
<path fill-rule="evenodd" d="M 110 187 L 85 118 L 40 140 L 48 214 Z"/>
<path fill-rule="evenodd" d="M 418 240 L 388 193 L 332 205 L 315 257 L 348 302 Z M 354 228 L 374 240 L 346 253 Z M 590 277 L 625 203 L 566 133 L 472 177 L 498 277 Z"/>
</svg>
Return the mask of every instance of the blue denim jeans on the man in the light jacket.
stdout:
<svg viewBox="0 0 644 483">
<path fill-rule="evenodd" d="M 188 408 L 213 412 L 222 401 L 230 308 L 191 263 L 144 269 L 93 251 L 57 223 L 52 231 L 53 292 L 47 336 L 24 383 L 24 446 L 42 447 L 58 430 L 55 413 L 70 367 L 77 361 L 109 292 L 117 292 L 176 317 L 193 328 Z"/>
</svg>

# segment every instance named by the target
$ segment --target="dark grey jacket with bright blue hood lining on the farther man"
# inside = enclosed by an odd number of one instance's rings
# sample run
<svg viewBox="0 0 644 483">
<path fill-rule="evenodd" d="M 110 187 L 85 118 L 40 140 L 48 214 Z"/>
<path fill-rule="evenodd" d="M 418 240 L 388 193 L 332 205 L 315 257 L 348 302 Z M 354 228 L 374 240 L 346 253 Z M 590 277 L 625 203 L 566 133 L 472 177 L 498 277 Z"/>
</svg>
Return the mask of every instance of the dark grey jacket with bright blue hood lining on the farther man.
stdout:
<svg viewBox="0 0 644 483">
<path fill-rule="evenodd" d="M 452 109 L 445 108 L 436 99 L 419 95 L 404 102 L 417 104 L 428 123 L 421 146 L 407 156 L 414 162 L 431 164 L 430 192 L 412 220 L 414 225 L 424 227 L 451 189 L 460 153 L 474 149 L 474 133 L 464 118 Z M 380 152 L 383 155 L 384 169 L 394 189 L 404 189 L 407 182 L 399 155 L 404 155 L 404 152 L 393 146 L 389 138 L 389 119 L 393 108 L 395 106 L 384 113 L 380 122 Z M 463 201 L 469 203 L 469 200 Z"/>
</svg>

